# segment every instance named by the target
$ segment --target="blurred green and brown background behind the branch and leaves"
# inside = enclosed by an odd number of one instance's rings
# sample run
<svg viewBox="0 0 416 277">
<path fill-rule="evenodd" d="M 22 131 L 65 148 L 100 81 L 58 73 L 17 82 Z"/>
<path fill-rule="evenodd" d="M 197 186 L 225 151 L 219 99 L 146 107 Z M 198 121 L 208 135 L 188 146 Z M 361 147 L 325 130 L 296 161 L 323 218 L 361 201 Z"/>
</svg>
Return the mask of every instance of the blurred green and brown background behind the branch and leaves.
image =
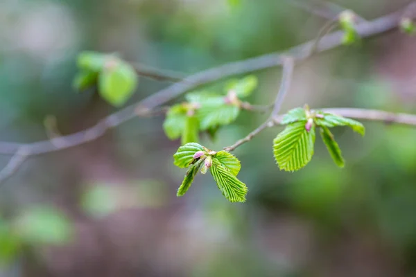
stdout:
<svg viewBox="0 0 416 277">
<path fill-rule="evenodd" d="M 336 3 L 372 19 L 406 1 Z M 71 87 L 80 51 L 187 75 L 284 51 L 325 22 L 290 0 L 2 0 L 0 139 L 48 139 L 45 118 L 71 134 L 114 111 L 93 89 Z M 297 66 L 283 109 L 416 113 L 415 47 L 393 31 L 317 55 Z M 256 72 L 250 102 L 270 103 L 280 73 Z M 141 78 L 130 103 L 168 84 Z M 202 144 L 219 150 L 264 117 L 244 112 Z M 209 175 L 175 196 L 180 142 L 166 139 L 163 120 L 136 118 L 92 143 L 31 157 L 3 182 L 0 276 L 416 276 L 415 129 L 365 123 L 364 138 L 334 129 L 345 168 L 317 140 L 295 173 L 275 165 L 281 127 L 268 129 L 235 151 L 249 193 L 230 204 Z"/>
</svg>

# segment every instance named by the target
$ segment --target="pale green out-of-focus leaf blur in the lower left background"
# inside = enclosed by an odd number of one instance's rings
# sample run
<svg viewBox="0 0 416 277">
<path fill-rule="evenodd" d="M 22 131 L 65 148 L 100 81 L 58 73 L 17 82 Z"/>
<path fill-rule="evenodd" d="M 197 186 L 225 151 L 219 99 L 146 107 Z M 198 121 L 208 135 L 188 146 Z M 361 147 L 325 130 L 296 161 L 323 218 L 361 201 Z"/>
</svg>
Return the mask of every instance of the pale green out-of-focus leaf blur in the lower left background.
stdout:
<svg viewBox="0 0 416 277">
<path fill-rule="evenodd" d="M 17 219 L 17 233 L 31 244 L 67 244 L 73 238 L 73 226 L 57 209 L 42 206 Z"/>
</svg>

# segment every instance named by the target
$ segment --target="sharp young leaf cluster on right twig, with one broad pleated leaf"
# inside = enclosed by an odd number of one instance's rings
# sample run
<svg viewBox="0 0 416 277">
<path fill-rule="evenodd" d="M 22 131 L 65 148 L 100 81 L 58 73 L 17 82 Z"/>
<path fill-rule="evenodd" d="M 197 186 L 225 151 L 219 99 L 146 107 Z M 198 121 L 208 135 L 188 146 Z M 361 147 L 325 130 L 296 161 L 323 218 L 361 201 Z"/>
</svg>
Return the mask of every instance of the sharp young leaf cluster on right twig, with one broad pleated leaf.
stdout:
<svg viewBox="0 0 416 277">
<path fill-rule="evenodd" d="M 345 161 L 329 128 L 348 126 L 358 134 L 365 134 L 363 124 L 356 120 L 323 111 L 310 111 L 308 107 L 288 111 L 281 123 L 287 126 L 273 141 L 273 152 L 279 168 L 286 171 L 300 170 L 311 161 L 316 128 L 333 161 L 341 168 Z"/>
</svg>

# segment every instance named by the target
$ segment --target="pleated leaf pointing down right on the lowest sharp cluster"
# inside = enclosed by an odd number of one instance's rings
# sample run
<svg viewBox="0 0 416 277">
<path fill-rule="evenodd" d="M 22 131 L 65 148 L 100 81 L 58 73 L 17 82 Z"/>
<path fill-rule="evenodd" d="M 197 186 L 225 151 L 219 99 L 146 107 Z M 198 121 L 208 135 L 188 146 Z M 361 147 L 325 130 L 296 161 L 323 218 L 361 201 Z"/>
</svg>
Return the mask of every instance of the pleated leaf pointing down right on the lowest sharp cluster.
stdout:
<svg viewBox="0 0 416 277">
<path fill-rule="evenodd" d="M 210 171 L 218 188 L 221 190 L 221 193 L 223 193 L 229 202 L 245 202 L 245 195 L 248 191 L 247 186 L 237 179 L 237 177 L 225 168 L 223 163 L 215 157 L 212 159 Z"/>
</svg>

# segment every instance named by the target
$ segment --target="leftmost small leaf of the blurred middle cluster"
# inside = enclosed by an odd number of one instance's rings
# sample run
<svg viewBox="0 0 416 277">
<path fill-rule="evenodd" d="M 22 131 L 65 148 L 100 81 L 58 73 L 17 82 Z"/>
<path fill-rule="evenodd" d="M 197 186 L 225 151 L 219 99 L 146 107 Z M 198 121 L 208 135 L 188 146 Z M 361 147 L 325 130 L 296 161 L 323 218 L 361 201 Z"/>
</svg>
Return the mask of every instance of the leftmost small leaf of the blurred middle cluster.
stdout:
<svg viewBox="0 0 416 277">
<path fill-rule="evenodd" d="M 187 125 L 187 108 L 182 104 L 172 106 L 163 123 L 163 129 L 169 139 L 178 139 Z"/>
</svg>

